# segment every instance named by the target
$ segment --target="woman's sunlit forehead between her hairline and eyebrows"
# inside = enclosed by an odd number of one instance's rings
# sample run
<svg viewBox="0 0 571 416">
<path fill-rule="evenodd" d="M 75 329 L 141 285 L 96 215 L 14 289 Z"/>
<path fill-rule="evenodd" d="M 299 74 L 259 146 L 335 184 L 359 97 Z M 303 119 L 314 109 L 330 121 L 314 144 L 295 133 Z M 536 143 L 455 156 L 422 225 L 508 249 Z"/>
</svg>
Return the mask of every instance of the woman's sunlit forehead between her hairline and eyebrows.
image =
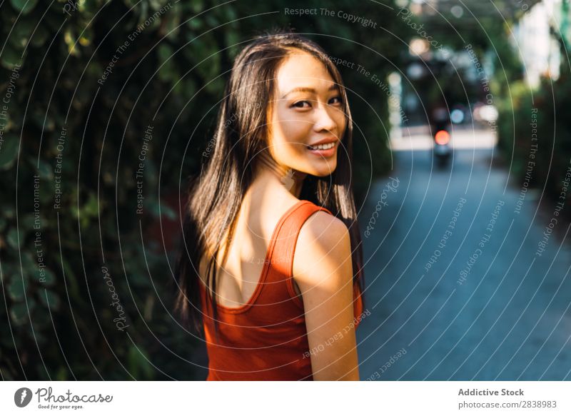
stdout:
<svg viewBox="0 0 571 416">
<path fill-rule="evenodd" d="M 287 92 L 296 86 L 327 89 L 334 83 L 333 78 L 321 61 L 315 56 L 299 50 L 292 51 L 283 59 L 276 73 L 276 81 L 278 91 L 281 92 Z"/>
</svg>

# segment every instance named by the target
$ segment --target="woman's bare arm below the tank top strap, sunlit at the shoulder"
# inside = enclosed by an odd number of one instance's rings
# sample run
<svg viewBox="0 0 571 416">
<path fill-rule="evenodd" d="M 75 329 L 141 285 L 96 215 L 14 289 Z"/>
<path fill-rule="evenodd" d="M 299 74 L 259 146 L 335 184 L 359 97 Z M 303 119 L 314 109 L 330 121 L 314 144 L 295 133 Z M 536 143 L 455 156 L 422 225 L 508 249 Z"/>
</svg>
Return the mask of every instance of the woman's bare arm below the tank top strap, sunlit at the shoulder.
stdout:
<svg viewBox="0 0 571 416">
<path fill-rule="evenodd" d="M 305 310 L 313 380 L 359 380 L 349 232 L 318 211 L 303 224 L 293 278 Z"/>
</svg>

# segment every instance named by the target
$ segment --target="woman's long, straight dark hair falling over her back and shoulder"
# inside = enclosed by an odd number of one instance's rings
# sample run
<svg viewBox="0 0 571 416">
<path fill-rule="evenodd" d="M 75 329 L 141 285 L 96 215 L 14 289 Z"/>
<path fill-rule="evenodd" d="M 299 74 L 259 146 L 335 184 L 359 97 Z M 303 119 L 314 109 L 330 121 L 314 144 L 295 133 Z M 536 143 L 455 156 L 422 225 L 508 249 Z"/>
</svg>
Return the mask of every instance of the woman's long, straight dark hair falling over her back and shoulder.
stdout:
<svg viewBox="0 0 571 416">
<path fill-rule="evenodd" d="M 203 315 L 199 265 L 203 259 L 208 259 L 205 280 L 209 293 L 216 293 L 216 258 L 226 233 L 229 237 L 233 235 L 243 196 L 256 172 L 256 155 L 267 147 L 267 108 L 273 99 L 276 71 L 281 61 L 295 49 L 308 52 L 323 62 L 340 88 L 346 120 L 340 143 L 340 146 L 345 146 L 345 151 L 338 153 L 337 168 L 323 178 L 306 176 L 300 199 L 327 208 L 348 227 L 353 280 L 363 291 L 363 249 L 350 175 L 353 119 L 340 73 L 325 51 L 313 41 L 293 33 L 266 34 L 258 36 L 236 56 L 218 111 L 216 133 L 211 140 L 213 150 L 211 155 L 207 155 L 210 157 L 203 172 L 191 179 L 188 188 L 186 218 L 176 265 L 178 294 L 175 309 L 183 323 L 188 326 L 192 322 L 198 332 L 202 328 Z M 225 258 L 227 251 L 224 250 Z M 216 296 L 211 296 L 211 300 L 218 334 Z"/>
</svg>

